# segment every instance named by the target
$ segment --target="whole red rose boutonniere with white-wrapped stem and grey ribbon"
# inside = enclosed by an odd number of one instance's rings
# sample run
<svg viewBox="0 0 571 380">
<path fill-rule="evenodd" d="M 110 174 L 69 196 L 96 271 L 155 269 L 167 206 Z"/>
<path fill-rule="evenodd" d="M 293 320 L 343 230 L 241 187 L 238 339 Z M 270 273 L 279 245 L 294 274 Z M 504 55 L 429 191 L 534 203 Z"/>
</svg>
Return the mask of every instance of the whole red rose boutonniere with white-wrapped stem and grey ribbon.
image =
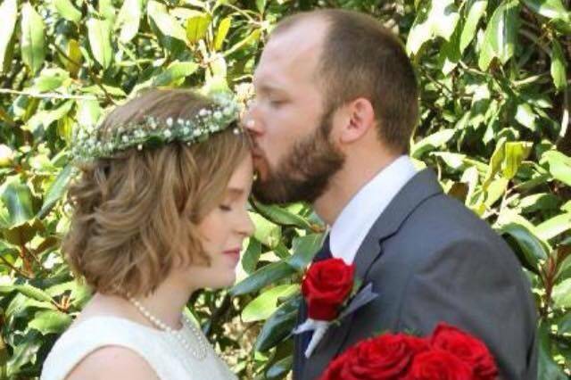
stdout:
<svg viewBox="0 0 571 380">
<path fill-rule="evenodd" d="M 361 285 L 361 281 L 355 278 L 354 264 L 346 264 L 342 259 L 311 264 L 302 281 L 308 318 L 294 329 L 294 334 L 313 331 L 305 350 L 306 358 L 310 357 L 329 326 L 377 298 L 378 294 L 373 293 L 370 283 L 364 287 Z"/>
</svg>

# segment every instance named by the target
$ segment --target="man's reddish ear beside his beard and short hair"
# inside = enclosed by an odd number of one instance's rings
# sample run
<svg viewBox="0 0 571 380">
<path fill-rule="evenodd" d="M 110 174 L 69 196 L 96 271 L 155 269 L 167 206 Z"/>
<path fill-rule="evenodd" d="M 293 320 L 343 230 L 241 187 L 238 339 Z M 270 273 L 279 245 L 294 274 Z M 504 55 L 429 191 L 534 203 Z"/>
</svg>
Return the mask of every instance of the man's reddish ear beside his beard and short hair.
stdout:
<svg viewBox="0 0 571 380">
<path fill-rule="evenodd" d="M 375 132 L 375 110 L 367 98 L 359 97 L 345 104 L 341 111 L 343 125 L 339 141 L 342 144 L 352 144 L 369 132 Z"/>
</svg>

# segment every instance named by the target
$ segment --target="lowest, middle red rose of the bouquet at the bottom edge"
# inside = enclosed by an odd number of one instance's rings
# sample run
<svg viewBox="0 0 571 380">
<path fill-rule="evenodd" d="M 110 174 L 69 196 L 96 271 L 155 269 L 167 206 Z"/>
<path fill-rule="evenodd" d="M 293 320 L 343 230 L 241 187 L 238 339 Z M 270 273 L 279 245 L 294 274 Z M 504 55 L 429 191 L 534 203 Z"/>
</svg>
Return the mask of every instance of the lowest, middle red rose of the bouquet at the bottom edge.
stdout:
<svg viewBox="0 0 571 380">
<path fill-rule="evenodd" d="M 448 351 L 433 349 L 413 360 L 407 380 L 475 380 L 472 369 Z"/>
</svg>

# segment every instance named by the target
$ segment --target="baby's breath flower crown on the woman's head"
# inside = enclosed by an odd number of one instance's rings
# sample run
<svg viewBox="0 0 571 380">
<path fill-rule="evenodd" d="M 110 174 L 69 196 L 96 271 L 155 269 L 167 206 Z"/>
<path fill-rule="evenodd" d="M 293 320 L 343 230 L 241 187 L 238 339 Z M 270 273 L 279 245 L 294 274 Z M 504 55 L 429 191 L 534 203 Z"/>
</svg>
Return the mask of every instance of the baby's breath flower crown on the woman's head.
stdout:
<svg viewBox="0 0 571 380">
<path fill-rule="evenodd" d="M 103 136 L 99 127 L 76 128 L 71 152 L 78 161 L 90 161 L 110 157 L 132 147 L 143 150 L 173 141 L 184 142 L 186 145 L 203 142 L 212 134 L 232 125 L 240 113 L 240 106 L 230 95 L 215 95 L 211 99 L 213 105 L 203 108 L 191 119 L 157 119 L 148 116 L 142 122 L 113 128 L 109 136 Z M 234 133 L 239 134 L 240 129 L 235 128 Z"/>
</svg>

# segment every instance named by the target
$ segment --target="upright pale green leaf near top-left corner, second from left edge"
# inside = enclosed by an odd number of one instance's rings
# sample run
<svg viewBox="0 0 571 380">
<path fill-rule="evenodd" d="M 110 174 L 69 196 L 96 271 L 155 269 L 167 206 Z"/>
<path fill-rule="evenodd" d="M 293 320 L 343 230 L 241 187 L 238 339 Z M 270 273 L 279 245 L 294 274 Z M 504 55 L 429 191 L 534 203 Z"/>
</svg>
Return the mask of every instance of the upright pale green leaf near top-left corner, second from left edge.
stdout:
<svg viewBox="0 0 571 380">
<path fill-rule="evenodd" d="M 42 17 L 29 4 L 21 8 L 21 59 L 35 74 L 46 59 L 45 24 Z"/>
</svg>

